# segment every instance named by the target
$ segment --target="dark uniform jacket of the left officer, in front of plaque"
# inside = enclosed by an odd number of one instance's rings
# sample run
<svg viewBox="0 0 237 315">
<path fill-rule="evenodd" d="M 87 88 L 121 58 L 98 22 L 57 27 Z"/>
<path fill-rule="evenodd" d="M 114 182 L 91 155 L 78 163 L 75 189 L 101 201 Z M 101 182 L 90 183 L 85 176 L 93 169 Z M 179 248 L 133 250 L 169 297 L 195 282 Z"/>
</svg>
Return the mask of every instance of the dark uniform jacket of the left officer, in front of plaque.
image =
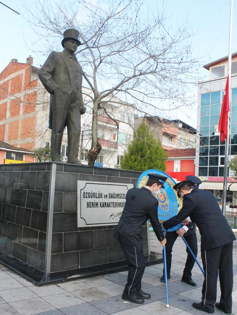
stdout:
<svg viewBox="0 0 237 315">
<path fill-rule="evenodd" d="M 158 220 L 157 199 L 145 187 L 129 189 L 123 213 L 116 227 L 114 238 L 122 243 L 143 247 L 142 226 L 150 219 L 159 241 L 164 239 L 161 224 Z"/>
</svg>

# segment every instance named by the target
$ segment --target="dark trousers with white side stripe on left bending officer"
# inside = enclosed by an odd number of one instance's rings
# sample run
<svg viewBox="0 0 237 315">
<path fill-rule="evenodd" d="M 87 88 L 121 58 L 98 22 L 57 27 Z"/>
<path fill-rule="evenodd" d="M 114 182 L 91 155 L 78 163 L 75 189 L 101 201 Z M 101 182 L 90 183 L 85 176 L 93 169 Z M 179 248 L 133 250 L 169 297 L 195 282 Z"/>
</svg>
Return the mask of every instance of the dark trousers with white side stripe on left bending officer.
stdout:
<svg viewBox="0 0 237 315">
<path fill-rule="evenodd" d="M 143 248 L 120 242 L 128 264 L 127 284 L 124 293 L 127 295 L 141 290 L 141 279 L 145 270 Z"/>
</svg>

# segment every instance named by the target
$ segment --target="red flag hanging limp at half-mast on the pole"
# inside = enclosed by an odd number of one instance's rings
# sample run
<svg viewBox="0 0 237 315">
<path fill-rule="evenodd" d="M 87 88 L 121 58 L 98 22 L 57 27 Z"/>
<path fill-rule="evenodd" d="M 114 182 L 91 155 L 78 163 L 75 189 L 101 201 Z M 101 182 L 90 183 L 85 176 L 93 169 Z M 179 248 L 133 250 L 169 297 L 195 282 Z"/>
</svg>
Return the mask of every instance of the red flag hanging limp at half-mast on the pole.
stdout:
<svg viewBox="0 0 237 315">
<path fill-rule="evenodd" d="M 223 98 L 223 104 L 221 109 L 221 116 L 219 121 L 218 130 L 221 135 L 221 142 L 227 138 L 227 126 L 228 126 L 228 112 L 230 110 L 229 103 L 229 75 L 226 80 L 225 95 Z"/>
</svg>

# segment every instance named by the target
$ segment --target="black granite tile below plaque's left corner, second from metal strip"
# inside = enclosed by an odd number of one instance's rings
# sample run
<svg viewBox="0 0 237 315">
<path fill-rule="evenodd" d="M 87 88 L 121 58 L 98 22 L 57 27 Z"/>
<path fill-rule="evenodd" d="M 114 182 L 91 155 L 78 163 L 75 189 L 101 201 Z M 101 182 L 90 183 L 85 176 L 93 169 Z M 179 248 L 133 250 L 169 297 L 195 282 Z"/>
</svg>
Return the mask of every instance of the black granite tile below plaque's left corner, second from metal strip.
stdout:
<svg viewBox="0 0 237 315">
<path fill-rule="evenodd" d="M 73 252 L 76 250 L 94 248 L 93 231 L 70 232 L 63 234 L 63 251 Z"/>
</svg>

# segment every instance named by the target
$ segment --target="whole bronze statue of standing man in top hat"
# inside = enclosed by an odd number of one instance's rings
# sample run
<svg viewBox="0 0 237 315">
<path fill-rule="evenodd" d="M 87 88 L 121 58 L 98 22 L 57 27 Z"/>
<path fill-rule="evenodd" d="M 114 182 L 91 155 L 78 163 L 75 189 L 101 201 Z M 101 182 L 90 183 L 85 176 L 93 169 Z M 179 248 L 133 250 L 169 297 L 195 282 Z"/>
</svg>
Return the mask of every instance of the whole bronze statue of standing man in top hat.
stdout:
<svg viewBox="0 0 237 315">
<path fill-rule="evenodd" d="M 50 93 L 49 128 L 52 161 L 60 161 L 63 130 L 68 129 L 68 163 L 80 164 L 80 115 L 86 112 L 82 99 L 82 68 L 75 51 L 81 44 L 79 32 L 63 33 L 61 53 L 52 51 L 39 71 L 39 79 Z"/>
</svg>

